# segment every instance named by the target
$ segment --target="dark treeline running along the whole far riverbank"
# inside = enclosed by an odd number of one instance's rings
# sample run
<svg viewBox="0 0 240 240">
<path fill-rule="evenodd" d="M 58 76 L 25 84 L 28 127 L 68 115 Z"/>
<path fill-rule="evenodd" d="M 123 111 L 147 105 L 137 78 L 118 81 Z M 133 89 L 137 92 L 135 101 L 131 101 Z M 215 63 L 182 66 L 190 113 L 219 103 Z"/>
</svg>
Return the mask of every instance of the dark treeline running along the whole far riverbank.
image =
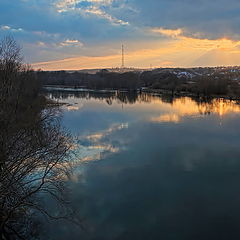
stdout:
<svg viewBox="0 0 240 240">
<path fill-rule="evenodd" d="M 96 74 L 77 71 L 38 71 L 36 74 L 43 85 L 129 91 L 147 88 L 149 90 L 166 90 L 172 95 L 186 92 L 198 96 L 240 95 L 239 80 L 228 72 L 223 74 L 211 71 L 211 74 L 191 74 L 191 77 L 178 75 L 176 72 L 166 69 L 126 73 L 101 70 Z"/>
</svg>

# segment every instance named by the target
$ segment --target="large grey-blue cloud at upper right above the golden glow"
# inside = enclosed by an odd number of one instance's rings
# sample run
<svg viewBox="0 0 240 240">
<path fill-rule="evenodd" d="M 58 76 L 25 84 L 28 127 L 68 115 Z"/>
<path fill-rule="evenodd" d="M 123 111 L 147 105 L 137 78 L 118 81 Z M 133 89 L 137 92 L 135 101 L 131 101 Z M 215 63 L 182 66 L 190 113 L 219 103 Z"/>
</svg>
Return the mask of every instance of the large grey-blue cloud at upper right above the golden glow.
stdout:
<svg viewBox="0 0 240 240">
<path fill-rule="evenodd" d="M 237 0 L 131 0 L 138 9 L 131 23 L 153 28 L 182 29 L 189 36 L 240 39 L 240 2 Z"/>
</svg>

